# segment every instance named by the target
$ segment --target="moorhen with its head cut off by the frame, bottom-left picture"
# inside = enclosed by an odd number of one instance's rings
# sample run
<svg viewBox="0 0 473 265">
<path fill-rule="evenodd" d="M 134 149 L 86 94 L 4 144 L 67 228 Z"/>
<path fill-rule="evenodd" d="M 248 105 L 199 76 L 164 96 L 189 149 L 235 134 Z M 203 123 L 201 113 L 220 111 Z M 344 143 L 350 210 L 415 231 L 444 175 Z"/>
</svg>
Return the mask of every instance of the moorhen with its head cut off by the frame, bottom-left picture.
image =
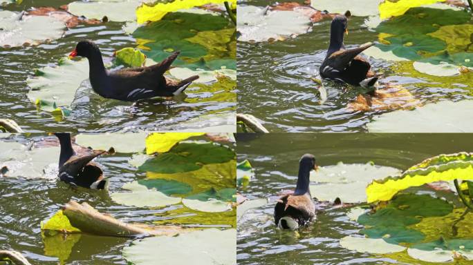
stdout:
<svg viewBox="0 0 473 265">
<path fill-rule="evenodd" d="M 86 154 L 77 155 L 72 147 L 70 133 L 55 133 L 61 144 L 59 155 L 59 179 L 73 186 L 84 188 L 105 189 L 107 180 L 100 167 L 91 162 L 92 159 L 109 151 L 88 149 Z"/>
</svg>

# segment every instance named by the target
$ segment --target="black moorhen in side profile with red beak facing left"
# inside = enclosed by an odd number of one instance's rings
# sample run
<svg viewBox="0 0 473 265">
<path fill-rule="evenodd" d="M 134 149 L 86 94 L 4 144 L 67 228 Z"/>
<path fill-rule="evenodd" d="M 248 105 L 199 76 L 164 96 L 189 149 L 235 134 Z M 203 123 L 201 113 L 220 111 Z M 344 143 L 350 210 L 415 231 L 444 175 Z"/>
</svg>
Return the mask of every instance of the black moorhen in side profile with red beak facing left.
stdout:
<svg viewBox="0 0 473 265">
<path fill-rule="evenodd" d="M 102 54 L 93 41 L 79 41 L 70 58 L 82 56 L 89 59 L 89 79 L 93 90 L 107 99 L 137 101 L 151 97 L 172 97 L 180 94 L 198 79 L 194 75 L 182 81 L 168 79 L 164 73 L 171 68 L 171 63 L 178 57 L 174 52 L 154 66 L 124 68 L 115 71 L 105 69 Z"/>
</svg>

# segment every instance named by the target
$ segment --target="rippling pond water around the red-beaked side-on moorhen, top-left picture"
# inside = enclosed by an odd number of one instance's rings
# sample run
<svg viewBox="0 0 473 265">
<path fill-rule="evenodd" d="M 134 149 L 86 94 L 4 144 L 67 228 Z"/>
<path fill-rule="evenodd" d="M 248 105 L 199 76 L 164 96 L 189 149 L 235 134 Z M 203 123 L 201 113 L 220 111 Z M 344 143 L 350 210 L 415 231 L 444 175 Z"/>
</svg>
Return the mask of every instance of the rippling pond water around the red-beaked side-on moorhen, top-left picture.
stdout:
<svg viewBox="0 0 473 265">
<path fill-rule="evenodd" d="M 59 6 L 72 1 L 25 0 L 17 5 L 11 3 L 0 9 L 28 10 L 33 7 Z M 136 39 L 122 30 L 124 22 L 107 22 L 96 25 L 80 24 L 66 30 L 60 39 L 39 46 L 0 48 L 0 109 L 2 118 L 12 119 L 28 132 L 113 132 L 138 130 L 183 130 L 203 126 L 228 125 L 228 115 L 236 108 L 236 81 L 230 88 L 214 88 L 212 84 L 192 84 L 187 97 L 158 98 L 131 104 L 125 101 L 104 99 L 91 90 L 89 81 L 81 84 L 73 112 L 57 120 L 49 112 L 38 111 L 26 96 L 30 88 L 26 79 L 44 66 L 56 66 L 57 61 L 68 55 L 77 41 L 91 39 L 98 43 L 105 62 L 110 62 L 113 52 L 122 48 L 135 48 Z M 234 43 L 234 42 L 232 42 Z M 233 49 L 234 50 L 234 49 Z M 229 51 L 221 50 L 221 57 Z M 216 56 L 218 58 L 218 56 Z M 205 115 L 217 115 L 197 124 L 194 119 Z M 219 116 L 221 115 L 221 116 Z M 184 125 L 188 121 L 190 124 Z M 180 124 L 183 124 L 180 126 Z"/>
</svg>

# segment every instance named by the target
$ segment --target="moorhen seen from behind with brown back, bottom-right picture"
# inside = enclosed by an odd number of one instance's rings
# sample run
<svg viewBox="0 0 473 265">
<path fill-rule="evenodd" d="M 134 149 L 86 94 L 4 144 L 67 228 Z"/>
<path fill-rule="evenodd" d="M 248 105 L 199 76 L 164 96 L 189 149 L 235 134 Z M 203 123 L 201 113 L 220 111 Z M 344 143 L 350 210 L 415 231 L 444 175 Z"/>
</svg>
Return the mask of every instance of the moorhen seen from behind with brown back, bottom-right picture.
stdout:
<svg viewBox="0 0 473 265">
<path fill-rule="evenodd" d="M 275 206 L 275 224 L 281 229 L 296 230 L 315 219 L 315 204 L 310 195 L 310 170 L 317 169 L 315 157 L 303 155 L 299 160 L 297 185 L 292 194 L 284 195 Z"/>
</svg>

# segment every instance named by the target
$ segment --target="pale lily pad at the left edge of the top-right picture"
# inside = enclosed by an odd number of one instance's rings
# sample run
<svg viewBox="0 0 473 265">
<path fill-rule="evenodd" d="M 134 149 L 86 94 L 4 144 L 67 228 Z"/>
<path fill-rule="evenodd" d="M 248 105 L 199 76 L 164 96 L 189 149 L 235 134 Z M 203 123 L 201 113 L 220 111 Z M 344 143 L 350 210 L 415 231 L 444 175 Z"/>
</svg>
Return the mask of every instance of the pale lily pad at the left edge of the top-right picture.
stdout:
<svg viewBox="0 0 473 265">
<path fill-rule="evenodd" d="M 297 10 L 268 10 L 257 6 L 236 8 L 239 41 L 275 41 L 307 33 L 310 17 Z"/>
</svg>

